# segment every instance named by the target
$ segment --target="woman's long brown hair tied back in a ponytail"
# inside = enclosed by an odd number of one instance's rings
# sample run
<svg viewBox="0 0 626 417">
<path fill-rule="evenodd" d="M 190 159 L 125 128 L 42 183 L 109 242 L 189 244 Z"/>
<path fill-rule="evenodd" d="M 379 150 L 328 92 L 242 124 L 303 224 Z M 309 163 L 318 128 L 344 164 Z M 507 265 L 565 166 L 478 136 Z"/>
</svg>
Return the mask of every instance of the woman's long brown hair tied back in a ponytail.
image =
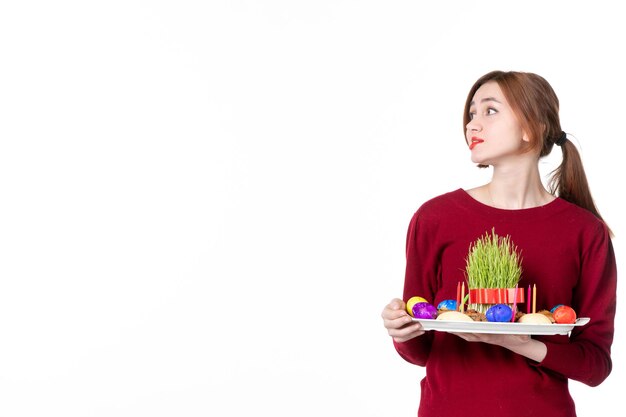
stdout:
<svg viewBox="0 0 626 417">
<path fill-rule="evenodd" d="M 559 99 L 543 77 L 529 72 L 492 71 L 480 77 L 467 95 L 463 112 L 463 132 L 465 133 L 470 121 L 469 109 L 476 90 L 490 81 L 498 83 L 522 130 L 528 135 L 527 150 L 541 149 L 539 157 L 552 152 L 552 148 L 562 134 Z M 565 140 L 561 145 L 561 150 L 563 159 L 552 172 L 548 183 L 550 193 L 589 210 L 606 225 L 591 197 L 587 175 L 585 175 L 576 146 L 569 140 Z M 611 233 L 610 229 L 609 233 Z"/>
</svg>

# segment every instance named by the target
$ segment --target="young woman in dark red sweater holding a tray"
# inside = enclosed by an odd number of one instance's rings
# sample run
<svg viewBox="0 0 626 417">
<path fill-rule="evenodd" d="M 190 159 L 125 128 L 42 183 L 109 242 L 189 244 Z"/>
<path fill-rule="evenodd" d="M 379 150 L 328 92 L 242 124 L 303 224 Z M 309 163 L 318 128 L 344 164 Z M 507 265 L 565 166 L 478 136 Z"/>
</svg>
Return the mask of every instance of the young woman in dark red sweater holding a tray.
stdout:
<svg viewBox="0 0 626 417">
<path fill-rule="evenodd" d="M 426 367 L 418 416 L 575 416 L 568 379 L 590 386 L 611 372 L 616 265 L 576 147 L 559 121 L 548 82 L 532 73 L 494 71 L 471 88 L 464 129 L 472 161 L 491 182 L 436 197 L 411 219 L 404 301 L 382 317 L 402 358 Z M 563 153 L 546 190 L 538 162 Z M 520 287 L 536 285 L 537 309 L 571 306 L 589 317 L 567 335 L 425 332 L 405 301 L 435 306 L 456 298 L 469 246 L 492 229 L 521 250 Z"/>
</svg>

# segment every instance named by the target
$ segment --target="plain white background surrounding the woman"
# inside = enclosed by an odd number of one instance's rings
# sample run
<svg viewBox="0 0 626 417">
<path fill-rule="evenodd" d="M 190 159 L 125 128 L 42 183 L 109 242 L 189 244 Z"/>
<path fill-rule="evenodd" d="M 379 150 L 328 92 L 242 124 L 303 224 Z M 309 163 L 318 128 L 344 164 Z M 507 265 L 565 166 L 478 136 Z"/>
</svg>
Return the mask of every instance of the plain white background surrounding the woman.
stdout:
<svg viewBox="0 0 626 417">
<path fill-rule="evenodd" d="M 551 82 L 623 270 L 613 4 L 2 1 L 0 415 L 414 416 L 380 312 L 415 209 L 489 178 L 479 76 Z"/>
</svg>

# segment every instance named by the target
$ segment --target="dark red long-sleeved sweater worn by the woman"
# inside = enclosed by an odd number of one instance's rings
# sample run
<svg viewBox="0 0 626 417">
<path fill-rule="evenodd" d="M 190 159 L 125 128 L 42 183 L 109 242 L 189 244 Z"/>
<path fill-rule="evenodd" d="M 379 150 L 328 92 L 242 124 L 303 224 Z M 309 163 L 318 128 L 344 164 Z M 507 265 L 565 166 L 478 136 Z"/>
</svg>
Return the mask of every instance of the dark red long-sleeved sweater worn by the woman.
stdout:
<svg viewBox="0 0 626 417">
<path fill-rule="evenodd" d="M 616 302 L 613 246 L 589 211 L 560 198 L 504 210 L 461 189 L 436 197 L 409 225 L 404 300 L 455 299 L 470 244 L 492 228 L 521 251 L 520 286 L 537 286 L 538 310 L 565 304 L 591 321 L 569 337 L 533 336 L 548 348 L 541 363 L 437 331 L 394 342 L 405 360 L 426 367 L 418 416 L 575 416 L 568 379 L 595 386 L 611 372 Z"/>
</svg>

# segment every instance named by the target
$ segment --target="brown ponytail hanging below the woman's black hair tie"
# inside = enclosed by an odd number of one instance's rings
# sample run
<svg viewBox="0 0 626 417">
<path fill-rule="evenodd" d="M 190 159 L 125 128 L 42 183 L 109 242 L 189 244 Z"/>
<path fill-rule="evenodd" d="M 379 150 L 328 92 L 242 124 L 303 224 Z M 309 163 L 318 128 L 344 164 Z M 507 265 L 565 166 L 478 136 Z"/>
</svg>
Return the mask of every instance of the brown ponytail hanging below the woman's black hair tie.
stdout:
<svg viewBox="0 0 626 417">
<path fill-rule="evenodd" d="M 548 183 L 550 193 L 592 212 L 605 224 L 612 237 L 613 232 L 602 219 L 591 197 L 587 175 L 585 175 L 585 169 L 576 146 L 566 139 L 565 134 L 555 144 L 560 145 L 563 151 L 563 160 L 561 165 L 552 171 L 552 177 Z"/>
</svg>

